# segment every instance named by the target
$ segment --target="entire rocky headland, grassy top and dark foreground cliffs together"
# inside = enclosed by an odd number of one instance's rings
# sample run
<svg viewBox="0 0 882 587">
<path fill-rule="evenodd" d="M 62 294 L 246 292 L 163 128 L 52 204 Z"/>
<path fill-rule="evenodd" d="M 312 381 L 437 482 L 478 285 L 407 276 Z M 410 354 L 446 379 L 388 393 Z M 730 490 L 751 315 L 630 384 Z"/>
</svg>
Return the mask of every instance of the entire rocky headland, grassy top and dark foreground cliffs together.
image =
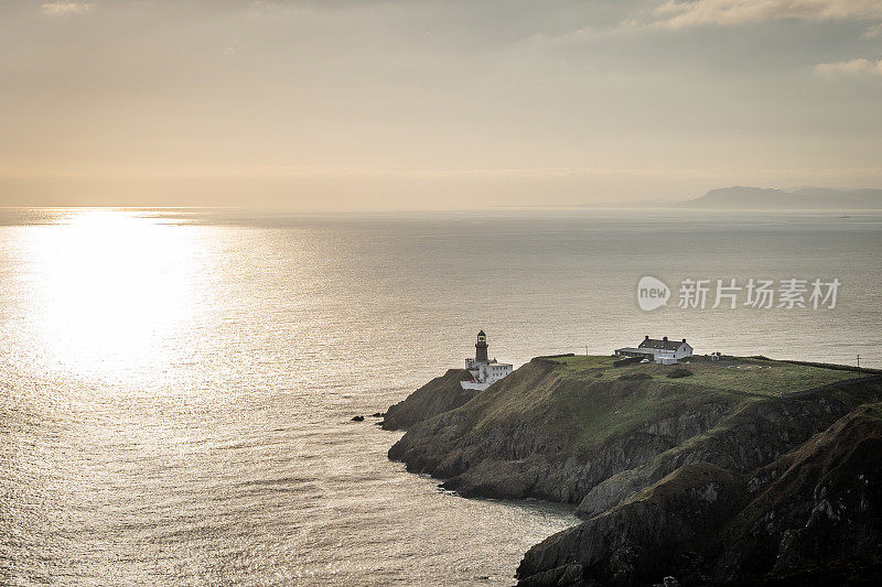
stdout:
<svg viewBox="0 0 882 587">
<path fill-rule="evenodd" d="M 423 398 L 435 411 L 389 456 L 465 496 L 578 504 L 583 523 L 525 555 L 524 585 L 872 573 L 882 378 L 766 359 L 688 369 L 535 359 L 456 407 Z"/>
</svg>

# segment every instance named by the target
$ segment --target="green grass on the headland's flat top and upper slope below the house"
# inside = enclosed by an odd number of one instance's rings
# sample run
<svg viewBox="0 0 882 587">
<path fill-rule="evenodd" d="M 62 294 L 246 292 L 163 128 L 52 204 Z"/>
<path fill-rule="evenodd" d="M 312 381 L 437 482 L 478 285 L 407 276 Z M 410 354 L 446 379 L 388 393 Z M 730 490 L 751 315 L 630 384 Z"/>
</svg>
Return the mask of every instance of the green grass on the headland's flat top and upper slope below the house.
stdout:
<svg viewBox="0 0 882 587">
<path fill-rule="evenodd" d="M 548 361 L 555 365 L 548 368 Z M 800 391 L 861 373 L 764 359 L 692 360 L 692 376 L 668 379 L 674 366 L 637 363 L 614 368 L 613 357 L 577 356 L 528 363 L 458 409 L 478 438 L 502 427 L 529 426 L 563 444 L 564 454 L 585 453 L 634 428 L 692 407 L 735 409 L 785 391 Z M 620 380 L 646 373 L 648 380 Z"/>
</svg>

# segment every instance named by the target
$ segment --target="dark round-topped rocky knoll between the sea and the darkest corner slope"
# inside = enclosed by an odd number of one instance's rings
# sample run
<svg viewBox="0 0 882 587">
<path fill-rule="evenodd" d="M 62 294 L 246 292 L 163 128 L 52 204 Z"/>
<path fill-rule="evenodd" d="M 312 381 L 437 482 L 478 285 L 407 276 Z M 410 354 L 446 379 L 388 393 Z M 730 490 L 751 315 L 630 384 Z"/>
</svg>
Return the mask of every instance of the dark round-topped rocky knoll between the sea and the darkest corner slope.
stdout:
<svg viewBox="0 0 882 587">
<path fill-rule="evenodd" d="M 647 585 L 679 570 L 702 580 L 712 542 L 743 503 L 735 476 L 708 464 L 686 465 L 612 510 L 530 548 L 519 585 Z M 684 573 L 688 572 L 688 575 Z"/>
</svg>

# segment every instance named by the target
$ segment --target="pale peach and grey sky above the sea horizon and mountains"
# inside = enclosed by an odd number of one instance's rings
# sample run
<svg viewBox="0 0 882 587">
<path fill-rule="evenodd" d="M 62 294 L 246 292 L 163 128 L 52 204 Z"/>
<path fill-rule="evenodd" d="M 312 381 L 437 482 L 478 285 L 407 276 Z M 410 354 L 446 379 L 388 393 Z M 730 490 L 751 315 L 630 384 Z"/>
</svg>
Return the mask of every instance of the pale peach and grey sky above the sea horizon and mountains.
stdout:
<svg viewBox="0 0 882 587">
<path fill-rule="evenodd" d="M 882 0 L 4 0 L 0 129 L 0 206 L 882 187 Z"/>
</svg>

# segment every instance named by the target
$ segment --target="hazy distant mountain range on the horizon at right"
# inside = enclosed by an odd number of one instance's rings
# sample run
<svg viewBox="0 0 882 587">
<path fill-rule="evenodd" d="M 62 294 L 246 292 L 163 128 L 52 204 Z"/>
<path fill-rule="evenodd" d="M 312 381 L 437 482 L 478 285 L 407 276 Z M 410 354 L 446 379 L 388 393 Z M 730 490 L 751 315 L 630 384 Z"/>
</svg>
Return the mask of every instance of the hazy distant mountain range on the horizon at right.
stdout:
<svg viewBox="0 0 882 587">
<path fill-rule="evenodd" d="M 804 208 L 804 209 L 882 209 L 882 189 L 829 189 L 806 187 L 785 192 L 765 187 L 721 187 L 684 204 L 700 208 Z"/>
</svg>

